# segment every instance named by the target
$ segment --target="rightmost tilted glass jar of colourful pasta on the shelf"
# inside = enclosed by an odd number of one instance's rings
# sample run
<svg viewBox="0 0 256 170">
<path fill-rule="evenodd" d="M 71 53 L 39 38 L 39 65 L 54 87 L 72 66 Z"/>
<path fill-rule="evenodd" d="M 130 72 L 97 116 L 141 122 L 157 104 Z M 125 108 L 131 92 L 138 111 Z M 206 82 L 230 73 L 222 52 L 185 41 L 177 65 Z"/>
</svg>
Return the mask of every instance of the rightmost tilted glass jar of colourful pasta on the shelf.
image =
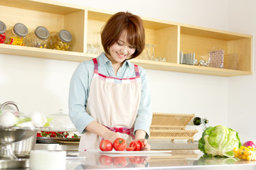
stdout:
<svg viewBox="0 0 256 170">
<path fill-rule="evenodd" d="M 72 35 L 68 30 L 60 30 L 59 32 L 50 33 L 48 40 L 48 48 L 53 50 L 68 51 Z"/>
</svg>

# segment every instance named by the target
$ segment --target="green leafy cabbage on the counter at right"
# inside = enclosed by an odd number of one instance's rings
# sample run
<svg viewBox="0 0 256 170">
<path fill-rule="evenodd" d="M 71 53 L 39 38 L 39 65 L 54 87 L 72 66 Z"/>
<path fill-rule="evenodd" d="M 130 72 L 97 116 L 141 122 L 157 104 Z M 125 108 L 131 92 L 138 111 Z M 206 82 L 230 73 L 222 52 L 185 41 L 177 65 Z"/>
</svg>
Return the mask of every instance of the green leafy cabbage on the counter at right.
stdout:
<svg viewBox="0 0 256 170">
<path fill-rule="evenodd" d="M 238 132 L 222 125 L 206 128 L 198 141 L 198 149 L 212 157 L 234 157 L 234 147 L 240 146 Z"/>
</svg>

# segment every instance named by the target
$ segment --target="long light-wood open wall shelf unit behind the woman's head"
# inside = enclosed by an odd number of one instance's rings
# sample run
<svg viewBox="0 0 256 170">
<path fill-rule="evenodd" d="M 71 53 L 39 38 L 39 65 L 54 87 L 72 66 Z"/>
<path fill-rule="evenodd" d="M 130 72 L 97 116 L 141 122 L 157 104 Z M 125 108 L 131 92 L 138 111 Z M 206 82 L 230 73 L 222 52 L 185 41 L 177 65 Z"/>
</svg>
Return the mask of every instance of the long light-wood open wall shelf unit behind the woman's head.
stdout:
<svg viewBox="0 0 256 170">
<path fill-rule="evenodd" d="M 100 45 L 100 30 L 114 14 L 114 12 L 96 8 L 42 0 L 1 0 L 0 10 L 1 21 L 6 23 L 7 28 L 14 26 L 15 23 L 23 23 L 29 31 L 37 26 L 45 26 L 50 31 L 66 29 L 73 35 L 70 51 L 0 44 L 0 53 L 75 62 L 97 57 L 97 54 L 87 54 L 87 43 Z M 146 69 L 223 77 L 252 74 L 252 35 L 161 21 L 143 16 L 142 20 L 146 44 L 156 45 L 155 56 L 165 57 L 166 62 L 142 60 L 141 57 L 132 60 L 139 66 Z M 208 60 L 208 51 L 213 48 L 225 50 L 224 68 L 200 67 L 179 62 L 180 51 L 195 52 L 196 59 L 199 61 L 201 57 Z M 100 49 L 102 51 L 102 46 Z"/>
</svg>

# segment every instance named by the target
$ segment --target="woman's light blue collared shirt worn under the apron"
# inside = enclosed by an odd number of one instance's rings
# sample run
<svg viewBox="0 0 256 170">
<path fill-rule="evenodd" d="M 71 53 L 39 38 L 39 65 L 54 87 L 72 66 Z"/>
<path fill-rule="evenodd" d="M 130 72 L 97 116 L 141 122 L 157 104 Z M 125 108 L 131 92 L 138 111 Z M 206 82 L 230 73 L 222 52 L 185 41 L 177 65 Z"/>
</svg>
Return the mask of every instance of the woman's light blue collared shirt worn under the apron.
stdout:
<svg viewBox="0 0 256 170">
<path fill-rule="evenodd" d="M 122 67 L 118 69 L 117 75 L 114 74 L 112 63 L 107 59 L 105 52 L 102 52 L 102 54 L 97 57 L 97 61 L 99 73 L 107 77 L 117 77 L 119 79 L 136 77 L 134 64 L 129 60 L 125 61 Z M 70 81 L 68 97 L 69 115 L 75 128 L 77 128 L 80 133 L 84 133 L 87 125 L 94 120 L 85 111 L 93 73 L 94 63 L 92 60 L 81 62 L 78 68 L 75 69 Z M 142 79 L 142 94 L 137 118 L 134 123 L 134 132 L 136 132 L 136 130 L 144 130 L 147 139 L 149 137 L 149 126 L 151 125 L 152 119 L 151 95 L 145 69 L 139 67 L 139 74 Z"/>
</svg>

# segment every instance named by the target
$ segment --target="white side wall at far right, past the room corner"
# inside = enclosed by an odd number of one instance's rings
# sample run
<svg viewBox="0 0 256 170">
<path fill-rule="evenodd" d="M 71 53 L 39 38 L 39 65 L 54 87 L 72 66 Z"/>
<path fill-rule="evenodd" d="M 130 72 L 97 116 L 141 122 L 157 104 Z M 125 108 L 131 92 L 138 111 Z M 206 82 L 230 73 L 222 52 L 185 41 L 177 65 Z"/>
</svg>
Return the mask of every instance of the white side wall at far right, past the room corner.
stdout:
<svg viewBox="0 0 256 170">
<path fill-rule="evenodd" d="M 253 74 L 228 79 L 228 125 L 238 130 L 243 141 L 256 142 L 255 6 L 253 0 L 228 0 L 228 30 L 253 35 Z"/>
</svg>

